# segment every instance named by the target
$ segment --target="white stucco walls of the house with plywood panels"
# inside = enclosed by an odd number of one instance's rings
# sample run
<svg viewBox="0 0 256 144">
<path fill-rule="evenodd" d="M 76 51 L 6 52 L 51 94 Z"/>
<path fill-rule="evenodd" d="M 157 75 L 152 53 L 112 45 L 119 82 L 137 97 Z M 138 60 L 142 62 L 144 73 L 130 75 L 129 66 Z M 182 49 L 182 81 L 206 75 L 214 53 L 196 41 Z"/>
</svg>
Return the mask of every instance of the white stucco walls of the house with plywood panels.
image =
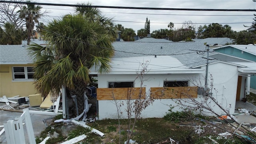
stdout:
<svg viewBox="0 0 256 144">
<path fill-rule="evenodd" d="M 202 67 L 205 69 L 206 66 Z M 210 74 L 213 76 L 213 86 L 216 89 L 216 92 L 213 91 L 213 95 L 216 100 L 223 106 L 231 106 L 230 113 L 234 113 L 235 103 L 236 103 L 236 87 L 238 80 L 237 67 L 224 63 L 216 63 L 209 65 L 208 68 L 208 83 L 210 82 Z M 108 82 L 124 82 L 132 81 L 136 78 L 136 74 L 102 74 L 98 75 L 98 88 L 108 88 Z M 163 87 L 165 80 L 191 80 L 194 79 L 204 86 L 204 74 L 148 74 L 144 82 L 146 87 L 146 92 L 150 90 L 150 87 Z M 189 83 L 190 86 L 193 86 Z M 134 87 L 140 87 L 140 80 L 135 81 Z M 226 87 L 226 88 L 224 88 Z M 200 96 L 198 96 L 200 99 Z M 126 100 L 122 100 L 123 106 L 120 108 L 122 112 L 121 118 L 126 118 Z M 163 117 L 166 112 L 170 109 L 170 105 L 175 106 L 175 102 L 171 99 L 161 99 L 155 100 L 154 103 L 148 106 L 145 110 L 142 111 L 142 118 L 153 118 Z M 222 114 L 223 112 L 217 106 L 212 105 L 212 108 Z M 116 105 L 113 100 L 99 100 L 98 101 L 98 110 L 99 110 L 99 119 L 112 118 L 116 119 L 117 110 Z M 179 107 L 175 107 L 173 110 L 181 110 Z"/>
</svg>

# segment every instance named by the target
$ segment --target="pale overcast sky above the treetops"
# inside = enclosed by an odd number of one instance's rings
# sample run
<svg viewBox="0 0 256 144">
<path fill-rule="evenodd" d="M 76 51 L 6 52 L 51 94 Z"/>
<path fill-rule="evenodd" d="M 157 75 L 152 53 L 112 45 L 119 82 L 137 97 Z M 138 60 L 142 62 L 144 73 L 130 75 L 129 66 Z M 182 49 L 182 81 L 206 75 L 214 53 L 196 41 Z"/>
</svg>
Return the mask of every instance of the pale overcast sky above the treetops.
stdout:
<svg viewBox="0 0 256 144">
<path fill-rule="evenodd" d="M 53 4 L 77 4 L 90 2 L 93 6 L 149 8 L 256 9 L 256 2 L 253 2 L 252 0 L 36 0 L 35 2 Z M 50 11 L 46 14 L 47 17 L 44 17 L 41 20 L 44 24 L 49 20 L 51 21 L 53 18 L 58 18 L 58 16 L 74 13 L 74 7 L 69 6 L 42 7 L 42 10 Z M 238 32 L 247 29 L 243 25 L 251 26 L 254 21 L 253 18 L 255 17 L 253 14 L 256 14 L 256 12 L 133 10 L 113 8 L 99 9 L 105 17 L 113 18 L 115 24 L 122 24 L 124 28 L 132 28 L 136 33 L 137 30 L 144 28 L 147 17 L 148 20 L 150 20 L 150 32 L 168 28 L 169 22 L 174 23 L 174 28 L 178 29 L 181 28 L 182 23 L 186 21 L 191 21 L 197 27 L 200 25 L 203 26 L 204 24 L 208 26 L 212 23 L 219 23 L 222 24 L 222 26 L 228 24 L 231 26 L 232 30 Z"/>
</svg>

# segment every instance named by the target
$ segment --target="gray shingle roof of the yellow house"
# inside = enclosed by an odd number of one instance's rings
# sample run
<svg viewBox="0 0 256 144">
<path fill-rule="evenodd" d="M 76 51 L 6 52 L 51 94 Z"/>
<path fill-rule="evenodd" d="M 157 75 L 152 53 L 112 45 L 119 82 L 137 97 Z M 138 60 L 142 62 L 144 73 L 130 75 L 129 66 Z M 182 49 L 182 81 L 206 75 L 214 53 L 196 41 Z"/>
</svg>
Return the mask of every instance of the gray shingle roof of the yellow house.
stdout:
<svg viewBox="0 0 256 144">
<path fill-rule="evenodd" d="M 28 47 L 24 45 L 0 45 L 0 64 L 31 64 Z"/>
</svg>

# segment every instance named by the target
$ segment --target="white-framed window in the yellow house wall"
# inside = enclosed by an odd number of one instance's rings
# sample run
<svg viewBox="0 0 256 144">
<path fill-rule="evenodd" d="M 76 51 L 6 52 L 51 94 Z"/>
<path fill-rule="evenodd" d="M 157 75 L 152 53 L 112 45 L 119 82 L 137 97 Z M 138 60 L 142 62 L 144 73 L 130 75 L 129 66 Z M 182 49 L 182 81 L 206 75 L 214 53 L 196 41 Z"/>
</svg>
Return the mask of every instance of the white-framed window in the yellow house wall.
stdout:
<svg viewBox="0 0 256 144">
<path fill-rule="evenodd" d="M 13 80 L 33 80 L 34 67 L 12 67 Z"/>
</svg>

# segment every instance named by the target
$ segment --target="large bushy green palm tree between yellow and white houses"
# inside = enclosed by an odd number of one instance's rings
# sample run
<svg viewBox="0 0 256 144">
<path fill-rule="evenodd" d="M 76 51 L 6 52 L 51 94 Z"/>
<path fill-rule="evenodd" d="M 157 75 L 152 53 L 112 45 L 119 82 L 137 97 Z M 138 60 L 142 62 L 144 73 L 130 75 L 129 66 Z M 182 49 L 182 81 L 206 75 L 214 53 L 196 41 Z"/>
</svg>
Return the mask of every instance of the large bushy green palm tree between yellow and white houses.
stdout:
<svg viewBox="0 0 256 144">
<path fill-rule="evenodd" d="M 111 21 L 110 21 L 111 22 Z M 110 70 L 115 38 L 100 20 L 90 20 L 86 15 L 66 15 L 48 24 L 44 34 L 47 46 L 33 44 L 30 55 L 36 60 L 34 78 L 36 89 L 46 96 L 57 96 L 64 85 L 67 93 L 77 96 L 78 112 L 84 110 L 84 91 L 90 83 L 90 68 L 100 73 Z"/>
</svg>

